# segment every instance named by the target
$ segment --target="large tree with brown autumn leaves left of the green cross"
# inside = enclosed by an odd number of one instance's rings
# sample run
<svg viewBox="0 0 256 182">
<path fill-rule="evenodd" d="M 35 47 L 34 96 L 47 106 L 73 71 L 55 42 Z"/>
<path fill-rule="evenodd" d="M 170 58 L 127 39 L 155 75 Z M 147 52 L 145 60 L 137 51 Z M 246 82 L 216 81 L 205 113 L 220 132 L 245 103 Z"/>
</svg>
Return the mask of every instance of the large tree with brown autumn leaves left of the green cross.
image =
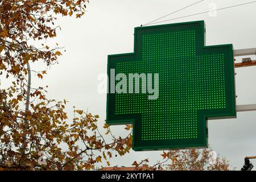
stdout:
<svg viewBox="0 0 256 182">
<path fill-rule="evenodd" d="M 101 134 L 98 115 L 75 107 L 73 119 L 68 119 L 67 101 L 48 99 L 46 88 L 31 88 L 30 108 L 24 109 L 28 73 L 35 72 L 39 78 L 46 74 L 28 69 L 28 64 L 40 61 L 49 67 L 61 56 L 57 44 L 50 48 L 39 42 L 57 35 L 57 15 L 80 18 L 86 4 L 86 0 L 0 1 L 1 80 L 14 80 L 9 88 L 1 86 L 0 90 L 1 169 L 89 170 L 98 163 L 110 165 L 113 152 L 129 152 L 130 133 L 125 138 L 114 137 L 105 125 Z M 40 165 L 44 158 L 46 163 Z"/>
</svg>

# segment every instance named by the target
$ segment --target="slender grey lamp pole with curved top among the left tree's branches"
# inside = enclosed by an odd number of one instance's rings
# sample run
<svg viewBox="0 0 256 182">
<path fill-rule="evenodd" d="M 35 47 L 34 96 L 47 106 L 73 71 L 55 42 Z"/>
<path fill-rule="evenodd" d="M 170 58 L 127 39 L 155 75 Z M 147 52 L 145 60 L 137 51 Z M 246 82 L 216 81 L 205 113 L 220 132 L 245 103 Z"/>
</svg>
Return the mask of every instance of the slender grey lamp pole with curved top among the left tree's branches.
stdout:
<svg viewBox="0 0 256 182">
<path fill-rule="evenodd" d="M 26 97 L 25 111 L 28 111 L 28 109 L 30 107 L 31 71 L 30 71 L 30 64 L 29 63 L 27 63 L 27 71 L 28 71 L 28 81 L 27 81 L 27 97 Z M 25 127 L 25 130 L 27 131 L 27 129 L 28 129 L 27 118 L 24 118 L 24 127 Z M 24 137 L 23 137 L 23 143 L 22 143 L 23 155 L 26 153 L 26 148 L 25 148 L 26 139 L 27 139 L 27 134 L 25 134 Z"/>
</svg>

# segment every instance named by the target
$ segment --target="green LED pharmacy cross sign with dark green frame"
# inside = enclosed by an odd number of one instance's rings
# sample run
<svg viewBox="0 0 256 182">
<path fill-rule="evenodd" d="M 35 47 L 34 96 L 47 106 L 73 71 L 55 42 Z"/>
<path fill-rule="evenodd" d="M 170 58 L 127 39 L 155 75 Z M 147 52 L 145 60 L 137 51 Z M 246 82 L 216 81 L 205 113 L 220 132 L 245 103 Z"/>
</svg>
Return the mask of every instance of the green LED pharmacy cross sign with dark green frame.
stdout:
<svg viewBox="0 0 256 182">
<path fill-rule="evenodd" d="M 205 46 L 204 21 L 134 37 L 134 53 L 108 56 L 106 122 L 132 123 L 135 151 L 207 147 L 207 119 L 236 117 L 232 44 Z"/>
</svg>

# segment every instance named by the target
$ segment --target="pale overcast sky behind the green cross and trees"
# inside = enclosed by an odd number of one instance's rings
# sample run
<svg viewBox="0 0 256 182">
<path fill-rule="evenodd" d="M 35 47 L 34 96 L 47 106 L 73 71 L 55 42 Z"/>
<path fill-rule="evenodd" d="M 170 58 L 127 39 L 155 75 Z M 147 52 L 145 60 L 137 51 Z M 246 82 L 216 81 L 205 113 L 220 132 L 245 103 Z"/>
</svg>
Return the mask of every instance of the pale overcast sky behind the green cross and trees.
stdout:
<svg viewBox="0 0 256 182">
<path fill-rule="evenodd" d="M 43 81 L 32 78 L 32 84 L 48 85 L 51 98 L 69 101 L 67 111 L 72 117 L 72 106 L 99 114 L 106 119 L 106 94 L 97 92 L 97 76 L 106 73 L 107 56 L 133 52 L 134 27 L 160 16 L 191 5 L 198 0 L 98 0 L 90 1 L 85 16 L 59 18 L 61 31 L 53 42 L 65 46 L 66 52 L 53 65 Z M 252 0 L 251 0 L 252 1 Z M 217 8 L 248 1 L 205 0 L 165 19 L 208 11 L 209 4 Z M 256 47 L 256 3 L 217 11 L 217 16 L 202 14 L 166 23 L 204 20 L 206 46 L 233 44 L 234 49 Z M 164 19 L 163 19 L 164 20 Z M 160 23 L 158 23 L 160 24 Z M 52 43 L 53 43 L 52 42 Z M 255 56 L 252 57 L 255 59 Z M 237 59 L 238 61 L 241 59 Z M 33 65 L 31 65 L 32 67 Z M 38 65 L 34 65 L 38 67 Z M 38 68 L 39 69 L 39 68 Z M 256 104 L 256 67 L 236 68 L 237 104 Z M 115 135 L 125 136 L 123 126 L 112 126 Z M 245 156 L 256 155 L 256 111 L 237 113 L 236 119 L 208 122 L 209 146 L 225 156 L 233 167 L 240 169 Z M 161 159 L 162 151 L 134 152 L 114 158 L 112 166 L 131 166 L 134 160 L 149 158 L 151 163 Z M 251 161 L 256 166 L 256 160 Z M 256 168 L 256 167 L 255 167 Z"/>
</svg>

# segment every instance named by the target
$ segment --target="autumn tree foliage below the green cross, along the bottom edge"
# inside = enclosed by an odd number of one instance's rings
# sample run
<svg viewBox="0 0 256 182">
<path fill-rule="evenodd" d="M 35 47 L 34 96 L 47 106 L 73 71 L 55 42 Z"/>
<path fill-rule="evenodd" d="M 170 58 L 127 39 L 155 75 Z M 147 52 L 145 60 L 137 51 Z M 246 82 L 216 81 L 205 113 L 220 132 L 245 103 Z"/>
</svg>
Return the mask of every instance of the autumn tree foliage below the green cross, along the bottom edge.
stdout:
<svg viewBox="0 0 256 182">
<path fill-rule="evenodd" d="M 230 166 L 225 158 L 214 156 L 213 150 L 170 150 L 163 151 L 163 161 L 150 166 L 148 159 L 132 164 L 135 170 L 170 171 L 228 171 Z"/>
</svg>

